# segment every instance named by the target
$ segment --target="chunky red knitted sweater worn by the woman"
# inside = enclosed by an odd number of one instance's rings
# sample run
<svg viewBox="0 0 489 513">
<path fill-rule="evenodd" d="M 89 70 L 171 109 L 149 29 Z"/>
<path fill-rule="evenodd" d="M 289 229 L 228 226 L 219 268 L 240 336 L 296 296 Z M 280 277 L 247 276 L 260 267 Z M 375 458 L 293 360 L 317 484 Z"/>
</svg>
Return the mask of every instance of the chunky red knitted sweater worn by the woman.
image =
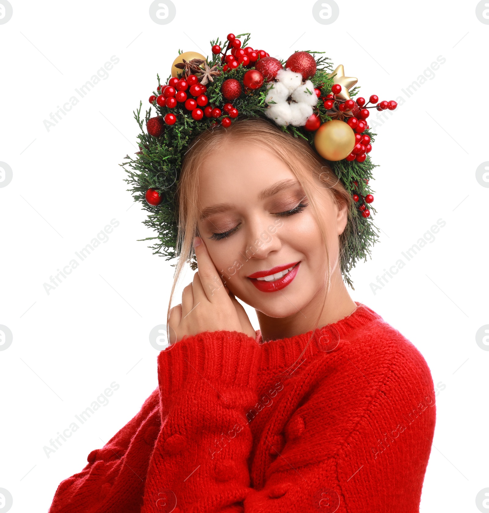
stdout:
<svg viewBox="0 0 489 513">
<path fill-rule="evenodd" d="M 418 512 L 431 373 L 357 306 L 314 334 L 204 332 L 161 351 L 158 388 L 49 513 Z"/>
</svg>

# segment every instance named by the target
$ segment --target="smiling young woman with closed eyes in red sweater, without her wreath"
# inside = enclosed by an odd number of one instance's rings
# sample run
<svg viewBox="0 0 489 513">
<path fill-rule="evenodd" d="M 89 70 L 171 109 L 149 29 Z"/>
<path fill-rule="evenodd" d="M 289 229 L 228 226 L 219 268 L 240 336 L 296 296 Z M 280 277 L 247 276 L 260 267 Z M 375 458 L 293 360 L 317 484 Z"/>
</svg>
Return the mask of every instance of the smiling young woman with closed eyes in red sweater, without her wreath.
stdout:
<svg viewBox="0 0 489 513">
<path fill-rule="evenodd" d="M 357 212 L 330 163 L 264 116 L 205 127 L 178 209 L 175 282 L 193 255 L 198 272 L 169 312 L 158 388 L 50 513 L 418 512 L 432 377 L 350 298 Z"/>
</svg>

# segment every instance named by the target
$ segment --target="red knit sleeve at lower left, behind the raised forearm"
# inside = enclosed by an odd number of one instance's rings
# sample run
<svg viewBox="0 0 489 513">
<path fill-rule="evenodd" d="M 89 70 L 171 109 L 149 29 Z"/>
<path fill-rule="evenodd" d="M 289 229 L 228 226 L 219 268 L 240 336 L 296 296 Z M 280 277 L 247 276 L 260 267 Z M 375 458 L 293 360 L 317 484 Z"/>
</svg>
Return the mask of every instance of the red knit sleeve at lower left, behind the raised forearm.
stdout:
<svg viewBox="0 0 489 513">
<path fill-rule="evenodd" d="M 49 513 L 139 513 L 147 466 L 159 430 L 157 388 L 139 413 L 103 448 L 90 452 L 81 472 L 60 483 Z M 122 493 L 114 491 L 120 489 Z"/>
</svg>

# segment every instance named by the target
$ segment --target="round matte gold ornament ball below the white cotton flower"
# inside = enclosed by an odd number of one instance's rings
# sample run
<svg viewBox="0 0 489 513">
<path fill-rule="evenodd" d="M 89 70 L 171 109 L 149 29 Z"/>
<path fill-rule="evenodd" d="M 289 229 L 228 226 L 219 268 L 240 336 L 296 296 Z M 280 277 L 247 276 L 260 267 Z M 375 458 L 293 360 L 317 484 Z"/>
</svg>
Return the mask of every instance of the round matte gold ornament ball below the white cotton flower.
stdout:
<svg viewBox="0 0 489 513">
<path fill-rule="evenodd" d="M 355 132 L 344 121 L 327 121 L 316 131 L 314 146 L 324 159 L 342 160 L 355 147 Z"/>
</svg>

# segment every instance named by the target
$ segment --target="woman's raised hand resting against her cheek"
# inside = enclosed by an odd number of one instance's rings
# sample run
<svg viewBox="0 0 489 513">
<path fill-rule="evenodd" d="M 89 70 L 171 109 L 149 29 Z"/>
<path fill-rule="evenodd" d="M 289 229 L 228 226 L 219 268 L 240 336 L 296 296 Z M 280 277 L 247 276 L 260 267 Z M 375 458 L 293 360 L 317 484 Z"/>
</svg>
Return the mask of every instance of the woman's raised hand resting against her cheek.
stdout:
<svg viewBox="0 0 489 513">
<path fill-rule="evenodd" d="M 198 272 L 182 294 L 182 304 L 170 310 L 170 344 L 203 331 L 239 331 L 253 339 L 255 330 L 243 306 L 219 277 L 200 237 L 194 240 Z"/>
</svg>

